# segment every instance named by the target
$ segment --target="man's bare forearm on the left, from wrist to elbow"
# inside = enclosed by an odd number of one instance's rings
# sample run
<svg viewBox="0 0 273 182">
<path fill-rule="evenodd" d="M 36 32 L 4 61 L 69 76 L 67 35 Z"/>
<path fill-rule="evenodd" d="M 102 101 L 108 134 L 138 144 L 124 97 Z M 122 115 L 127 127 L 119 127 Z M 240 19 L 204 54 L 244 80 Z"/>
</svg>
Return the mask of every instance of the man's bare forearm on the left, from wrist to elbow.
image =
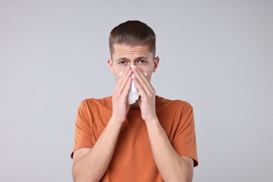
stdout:
<svg viewBox="0 0 273 182">
<path fill-rule="evenodd" d="M 122 123 L 111 119 L 92 149 L 73 165 L 74 181 L 99 181 L 109 166 Z"/>
</svg>

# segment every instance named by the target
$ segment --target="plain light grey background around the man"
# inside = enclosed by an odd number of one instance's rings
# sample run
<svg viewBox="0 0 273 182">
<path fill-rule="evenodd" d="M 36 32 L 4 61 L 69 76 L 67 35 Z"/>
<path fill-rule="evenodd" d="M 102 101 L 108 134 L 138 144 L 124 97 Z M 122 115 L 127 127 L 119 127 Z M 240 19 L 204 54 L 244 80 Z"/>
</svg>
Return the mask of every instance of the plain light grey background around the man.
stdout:
<svg viewBox="0 0 273 182">
<path fill-rule="evenodd" d="M 195 109 L 194 181 L 273 181 L 272 1 L 0 0 L 1 181 L 72 181 L 78 105 L 111 95 L 126 20 L 157 34 L 157 94 Z"/>
</svg>

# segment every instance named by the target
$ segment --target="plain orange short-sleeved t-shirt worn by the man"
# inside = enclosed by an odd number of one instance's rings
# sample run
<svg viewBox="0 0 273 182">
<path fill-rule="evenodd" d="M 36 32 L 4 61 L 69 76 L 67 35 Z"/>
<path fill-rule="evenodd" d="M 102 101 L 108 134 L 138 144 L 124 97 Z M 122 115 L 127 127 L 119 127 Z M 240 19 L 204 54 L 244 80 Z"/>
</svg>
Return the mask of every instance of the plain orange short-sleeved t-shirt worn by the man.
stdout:
<svg viewBox="0 0 273 182">
<path fill-rule="evenodd" d="M 198 162 L 193 107 L 188 102 L 158 96 L 155 107 L 158 120 L 175 151 L 192 158 L 196 167 Z M 92 148 L 111 115 L 111 97 L 85 99 L 78 109 L 73 152 L 79 148 Z M 155 165 L 140 109 L 130 109 L 128 112 L 102 181 L 163 181 Z"/>
</svg>

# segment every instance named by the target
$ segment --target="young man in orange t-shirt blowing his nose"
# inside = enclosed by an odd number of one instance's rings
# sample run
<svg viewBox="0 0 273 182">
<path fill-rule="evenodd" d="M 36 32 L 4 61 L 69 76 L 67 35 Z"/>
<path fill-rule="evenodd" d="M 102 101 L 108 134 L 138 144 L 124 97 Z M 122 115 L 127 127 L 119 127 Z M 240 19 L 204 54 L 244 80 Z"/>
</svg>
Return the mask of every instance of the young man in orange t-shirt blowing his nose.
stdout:
<svg viewBox="0 0 273 182">
<path fill-rule="evenodd" d="M 76 118 L 74 181 L 192 181 L 197 166 L 193 108 L 155 95 L 155 33 L 127 21 L 109 37 L 112 97 L 85 99 Z M 133 83 L 139 92 L 127 104 Z"/>
</svg>

